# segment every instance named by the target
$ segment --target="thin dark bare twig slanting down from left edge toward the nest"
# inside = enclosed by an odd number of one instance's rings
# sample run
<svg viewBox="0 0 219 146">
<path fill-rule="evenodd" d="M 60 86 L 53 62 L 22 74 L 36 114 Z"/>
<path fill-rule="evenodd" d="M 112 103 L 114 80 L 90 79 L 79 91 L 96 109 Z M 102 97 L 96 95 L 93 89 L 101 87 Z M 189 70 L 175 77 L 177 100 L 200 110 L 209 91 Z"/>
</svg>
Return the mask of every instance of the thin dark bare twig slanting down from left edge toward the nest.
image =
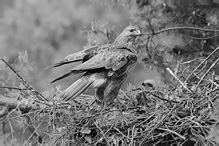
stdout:
<svg viewBox="0 0 219 146">
<path fill-rule="evenodd" d="M 13 67 L 10 66 L 10 64 L 8 64 L 4 59 L 1 59 L 17 76 L 18 78 L 21 80 L 21 82 L 23 83 L 23 85 L 28 88 L 31 92 L 33 92 L 39 100 L 43 100 L 43 101 L 48 101 L 42 94 L 40 94 L 39 92 L 37 92 L 36 90 L 34 90 L 18 73 L 17 71 L 14 70 Z"/>
</svg>

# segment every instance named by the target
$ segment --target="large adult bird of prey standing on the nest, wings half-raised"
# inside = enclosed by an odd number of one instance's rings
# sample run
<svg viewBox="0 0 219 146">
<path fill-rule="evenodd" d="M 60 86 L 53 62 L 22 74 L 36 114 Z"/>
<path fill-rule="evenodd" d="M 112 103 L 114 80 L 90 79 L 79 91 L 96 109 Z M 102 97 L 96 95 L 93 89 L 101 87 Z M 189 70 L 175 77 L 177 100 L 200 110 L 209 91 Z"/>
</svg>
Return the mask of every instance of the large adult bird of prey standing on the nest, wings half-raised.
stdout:
<svg viewBox="0 0 219 146">
<path fill-rule="evenodd" d="M 104 104 L 111 104 L 117 97 L 122 83 L 137 62 L 137 51 L 133 45 L 141 31 L 136 26 L 128 26 L 116 38 L 114 43 L 93 47 L 69 55 L 53 67 L 81 61 L 70 72 L 55 79 L 61 80 L 70 75 L 83 73 L 81 78 L 60 93 L 60 98 L 69 101 L 76 98 L 88 88 L 95 88 L 95 97 Z"/>
</svg>

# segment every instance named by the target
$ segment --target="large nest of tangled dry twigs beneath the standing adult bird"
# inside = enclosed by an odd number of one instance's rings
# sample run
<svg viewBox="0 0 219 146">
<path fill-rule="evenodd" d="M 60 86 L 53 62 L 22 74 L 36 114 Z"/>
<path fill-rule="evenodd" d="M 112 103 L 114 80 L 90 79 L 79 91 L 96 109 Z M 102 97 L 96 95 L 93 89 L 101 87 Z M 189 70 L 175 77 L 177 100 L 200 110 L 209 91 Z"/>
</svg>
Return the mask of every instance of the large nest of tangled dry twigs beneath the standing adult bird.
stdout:
<svg viewBox="0 0 219 146">
<path fill-rule="evenodd" d="M 191 92 L 179 86 L 168 94 L 133 92 L 121 91 L 113 107 L 101 112 L 95 105 L 78 103 L 68 116 L 56 116 L 56 128 L 63 127 L 65 133 L 57 140 L 65 137 L 78 145 L 214 144 L 208 135 L 216 124 L 212 118 L 216 85 L 206 82 Z"/>
</svg>

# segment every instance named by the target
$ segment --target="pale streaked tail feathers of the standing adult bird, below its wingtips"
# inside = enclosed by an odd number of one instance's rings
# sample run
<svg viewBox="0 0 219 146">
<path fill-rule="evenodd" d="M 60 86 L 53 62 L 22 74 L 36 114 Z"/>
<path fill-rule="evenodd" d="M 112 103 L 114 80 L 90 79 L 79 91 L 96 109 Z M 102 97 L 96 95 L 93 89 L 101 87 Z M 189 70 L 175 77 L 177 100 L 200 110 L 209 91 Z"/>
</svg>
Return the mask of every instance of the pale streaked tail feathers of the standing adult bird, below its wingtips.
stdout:
<svg viewBox="0 0 219 146">
<path fill-rule="evenodd" d="M 61 92 L 58 96 L 64 101 L 74 99 L 79 96 L 82 92 L 87 90 L 93 81 L 87 80 L 85 78 L 80 78 L 74 82 L 70 87 Z"/>
</svg>

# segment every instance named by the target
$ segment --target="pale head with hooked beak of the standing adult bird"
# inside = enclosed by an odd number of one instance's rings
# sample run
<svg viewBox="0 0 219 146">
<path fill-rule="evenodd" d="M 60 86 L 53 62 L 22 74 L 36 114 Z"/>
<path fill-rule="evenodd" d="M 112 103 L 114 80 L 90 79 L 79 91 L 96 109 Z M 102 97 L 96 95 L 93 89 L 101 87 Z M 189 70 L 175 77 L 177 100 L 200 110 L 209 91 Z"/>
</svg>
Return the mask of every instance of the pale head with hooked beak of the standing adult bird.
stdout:
<svg viewBox="0 0 219 146">
<path fill-rule="evenodd" d="M 116 38 L 116 43 L 128 43 L 134 41 L 137 36 L 141 35 L 141 31 L 137 26 L 127 26 L 122 33 Z"/>
</svg>

